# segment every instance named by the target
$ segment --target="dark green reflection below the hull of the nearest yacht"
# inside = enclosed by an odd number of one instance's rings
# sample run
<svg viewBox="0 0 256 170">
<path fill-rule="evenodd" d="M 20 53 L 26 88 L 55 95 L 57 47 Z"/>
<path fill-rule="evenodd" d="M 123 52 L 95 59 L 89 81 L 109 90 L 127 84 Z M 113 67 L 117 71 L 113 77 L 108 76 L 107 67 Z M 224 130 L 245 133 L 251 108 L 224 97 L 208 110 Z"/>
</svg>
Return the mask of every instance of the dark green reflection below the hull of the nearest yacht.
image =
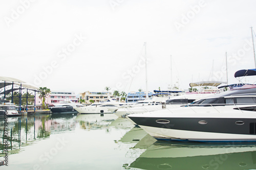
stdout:
<svg viewBox="0 0 256 170">
<path fill-rule="evenodd" d="M 124 169 L 255 169 L 254 144 L 157 141 Z"/>
</svg>

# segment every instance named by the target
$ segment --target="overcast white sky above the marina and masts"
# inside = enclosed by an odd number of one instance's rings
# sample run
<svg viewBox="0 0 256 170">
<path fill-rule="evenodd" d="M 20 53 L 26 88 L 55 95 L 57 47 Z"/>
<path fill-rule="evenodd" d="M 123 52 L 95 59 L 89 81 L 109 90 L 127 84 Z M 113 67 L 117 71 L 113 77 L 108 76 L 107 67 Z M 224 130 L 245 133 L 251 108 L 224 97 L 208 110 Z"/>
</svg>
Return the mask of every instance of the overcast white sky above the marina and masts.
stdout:
<svg viewBox="0 0 256 170">
<path fill-rule="evenodd" d="M 130 91 L 145 90 L 146 42 L 150 91 L 170 84 L 170 55 L 180 88 L 212 71 L 226 81 L 226 51 L 229 84 L 237 83 L 235 71 L 255 67 L 255 7 L 253 0 L 1 1 L 1 76 L 51 90 L 127 92 L 135 69 Z"/>
</svg>

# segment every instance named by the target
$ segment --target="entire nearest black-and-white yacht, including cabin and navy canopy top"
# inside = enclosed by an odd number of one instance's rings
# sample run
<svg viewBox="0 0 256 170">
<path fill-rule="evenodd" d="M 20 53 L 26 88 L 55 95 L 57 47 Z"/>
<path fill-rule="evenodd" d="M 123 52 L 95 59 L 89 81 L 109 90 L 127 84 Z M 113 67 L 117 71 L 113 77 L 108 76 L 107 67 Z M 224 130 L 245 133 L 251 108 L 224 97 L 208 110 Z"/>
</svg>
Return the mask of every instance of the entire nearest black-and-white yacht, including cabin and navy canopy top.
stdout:
<svg viewBox="0 0 256 170">
<path fill-rule="evenodd" d="M 235 77 L 254 76 L 256 69 L 253 70 L 237 71 Z M 255 142 L 255 111 L 256 85 L 246 84 L 178 109 L 131 114 L 128 117 L 159 140 Z"/>
</svg>

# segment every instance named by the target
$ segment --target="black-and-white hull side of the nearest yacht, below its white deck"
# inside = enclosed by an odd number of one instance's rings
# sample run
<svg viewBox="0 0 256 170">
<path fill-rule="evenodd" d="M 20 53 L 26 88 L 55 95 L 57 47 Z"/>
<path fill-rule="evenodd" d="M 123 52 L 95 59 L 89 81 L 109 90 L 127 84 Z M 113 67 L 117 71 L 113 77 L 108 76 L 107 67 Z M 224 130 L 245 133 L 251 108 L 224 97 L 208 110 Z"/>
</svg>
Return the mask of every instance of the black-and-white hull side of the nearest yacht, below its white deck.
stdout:
<svg viewBox="0 0 256 170">
<path fill-rule="evenodd" d="M 158 140 L 200 142 L 256 141 L 256 118 L 166 118 L 133 117 L 132 115 L 129 115 L 129 118 Z M 207 124 L 200 124 L 200 121 L 207 122 Z M 242 123 L 243 125 L 241 125 Z"/>
</svg>

